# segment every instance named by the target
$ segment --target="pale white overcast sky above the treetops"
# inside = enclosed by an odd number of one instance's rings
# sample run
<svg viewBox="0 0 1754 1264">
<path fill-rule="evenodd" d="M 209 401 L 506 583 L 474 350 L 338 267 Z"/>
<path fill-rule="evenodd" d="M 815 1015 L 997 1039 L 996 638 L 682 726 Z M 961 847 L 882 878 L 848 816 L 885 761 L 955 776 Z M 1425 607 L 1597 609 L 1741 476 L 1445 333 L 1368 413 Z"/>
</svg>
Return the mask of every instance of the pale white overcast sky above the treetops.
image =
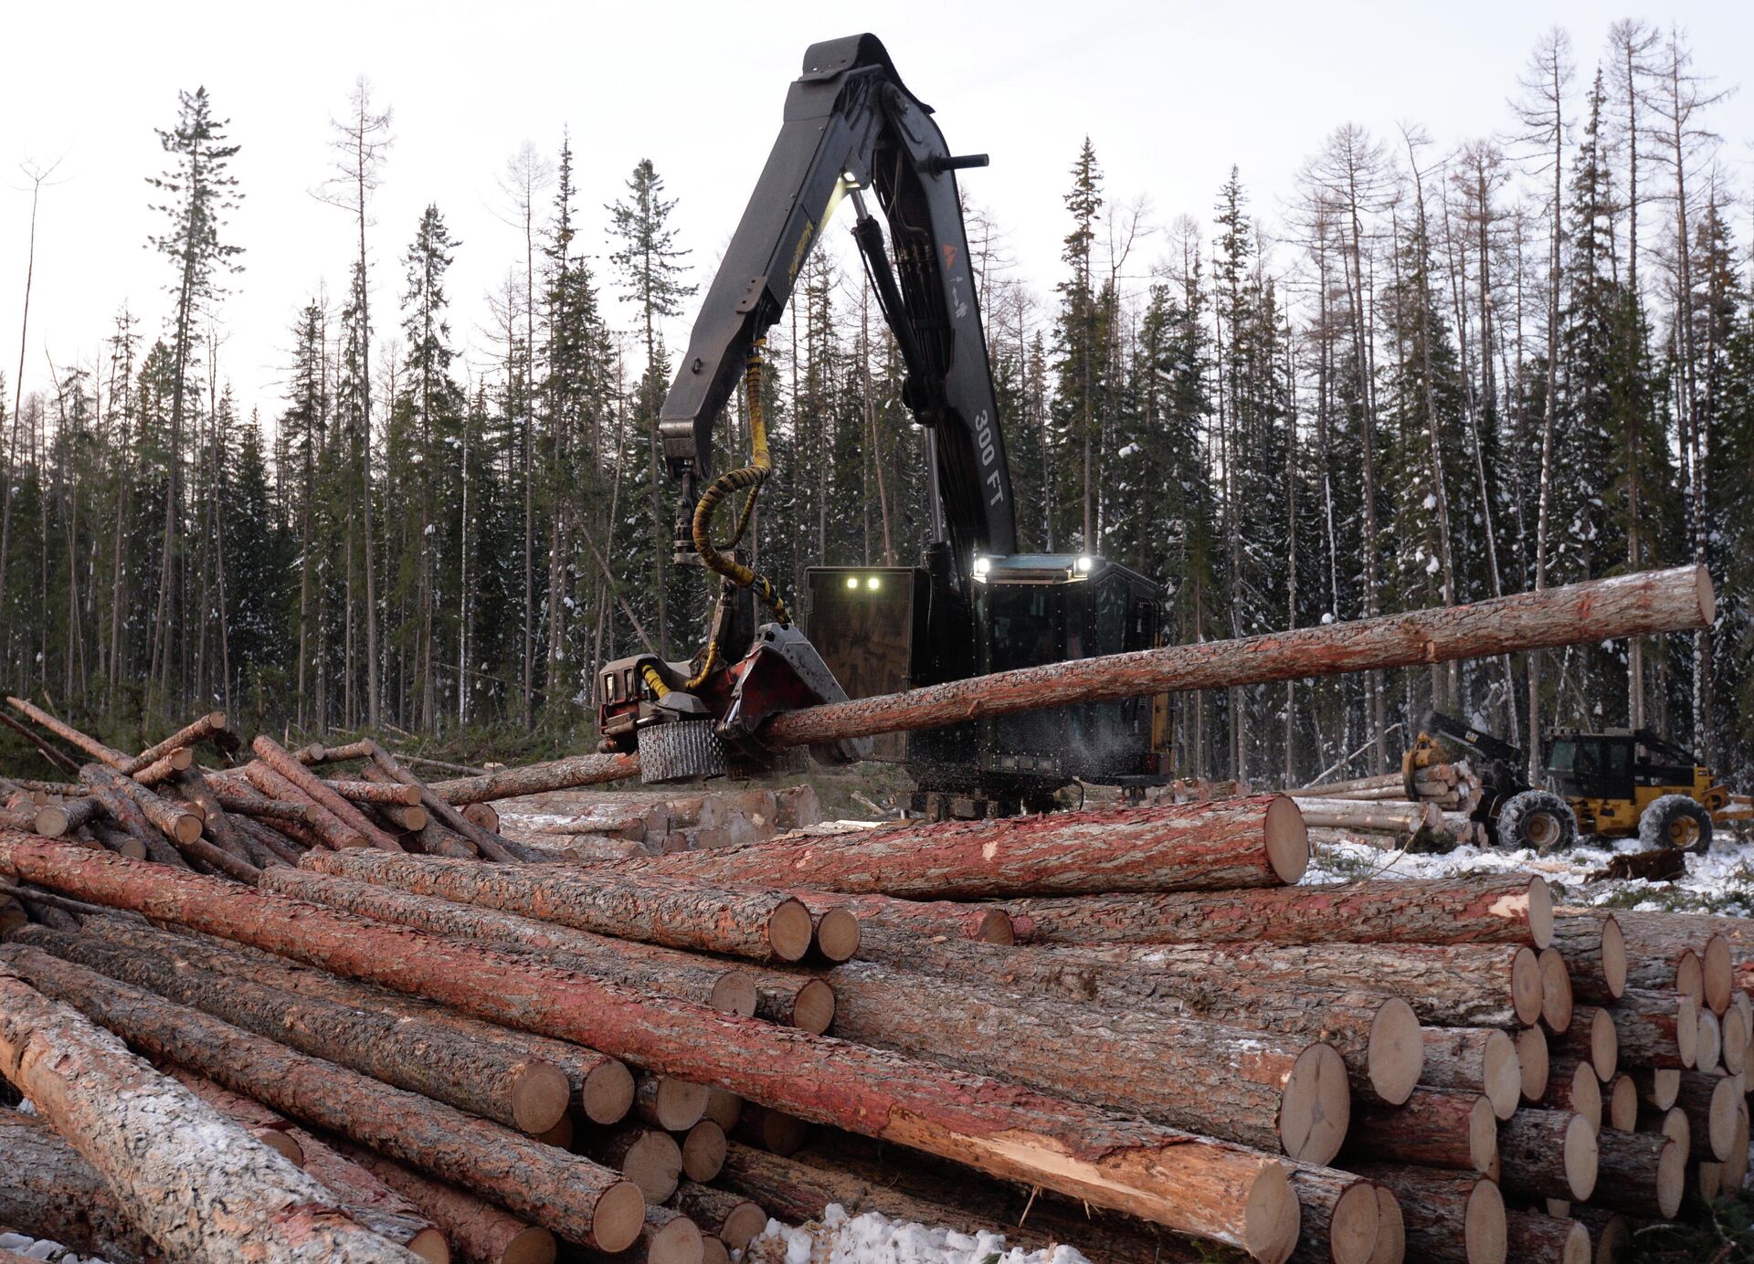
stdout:
<svg viewBox="0 0 1754 1264">
<path fill-rule="evenodd" d="M 1731 84 L 1754 47 L 1749 0 L 1663 2 L 1638 11 L 1691 35 L 1698 68 Z M 146 177 L 165 165 L 154 126 L 177 89 L 205 84 L 230 135 L 246 202 L 226 228 L 246 272 L 219 309 L 221 377 L 247 410 L 282 408 L 288 330 L 319 286 L 344 293 L 351 219 L 316 202 L 332 114 L 361 72 L 395 110 L 395 147 L 372 230 L 377 312 L 402 291 L 400 256 L 428 202 L 461 242 L 451 272 L 453 333 L 486 363 L 484 295 L 521 266 L 496 177 L 524 140 L 558 151 L 572 128 L 586 249 L 600 251 L 603 203 L 649 156 L 675 226 L 710 268 L 754 186 L 786 86 L 817 39 L 873 30 L 907 84 L 938 110 L 952 149 L 986 151 L 965 188 L 1010 237 L 1042 289 L 1058 273 L 1061 195 L 1089 133 L 1110 200 L 1147 193 L 1161 223 L 1210 221 L 1240 165 L 1268 217 L 1298 163 L 1342 121 L 1393 135 L 1422 123 L 1438 149 L 1503 130 L 1505 98 L 1537 35 L 1572 32 L 1580 82 L 1608 23 L 1600 4 L 1149 4 L 1019 0 L 882 5 L 791 4 L 32 4 L 9 9 L 0 74 L 0 373 L 18 368 L 30 196 L 16 163 L 56 160 L 42 195 L 26 389 L 56 365 L 96 361 L 116 309 L 163 328 L 167 261 L 144 247 L 161 217 Z M 1726 161 L 1745 175 L 1754 96 L 1714 114 Z M 838 224 L 840 230 L 845 224 Z M 607 261 L 603 263 L 607 268 Z M 705 280 L 705 275 L 698 275 Z M 388 300 L 388 302 L 386 302 Z M 610 303 L 610 317 L 628 310 Z M 689 314 L 691 316 L 691 314 Z M 379 317 L 379 330 L 388 331 Z M 670 333 L 686 342 L 686 321 Z"/>
</svg>

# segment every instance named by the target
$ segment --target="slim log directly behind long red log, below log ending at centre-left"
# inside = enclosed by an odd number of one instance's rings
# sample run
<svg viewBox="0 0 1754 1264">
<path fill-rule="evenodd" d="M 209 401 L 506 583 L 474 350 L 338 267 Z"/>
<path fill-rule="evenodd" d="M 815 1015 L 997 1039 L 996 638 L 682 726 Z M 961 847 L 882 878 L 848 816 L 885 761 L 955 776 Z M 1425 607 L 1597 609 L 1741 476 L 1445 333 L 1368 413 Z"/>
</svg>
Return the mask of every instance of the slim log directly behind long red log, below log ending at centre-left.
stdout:
<svg viewBox="0 0 1754 1264">
<path fill-rule="evenodd" d="M 570 926 L 538 922 L 533 917 L 456 905 L 435 896 L 414 896 L 310 870 L 272 873 L 261 885 L 265 891 L 277 891 L 282 896 L 314 905 L 328 905 L 379 922 L 395 922 L 514 952 L 540 954 L 545 961 L 567 969 L 607 978 L 644 992 L 674 996 L 724 1013 L 749 1017 L 758 1012 L 756 971 L 675 948 L 614 940 L 589 931 L 575 931 Z M 761 973 L 765 975 L 765 971 Z M 803 980 L 786 980 L 786 984 L 793 998 L 807 987 Z"/>
</svg>

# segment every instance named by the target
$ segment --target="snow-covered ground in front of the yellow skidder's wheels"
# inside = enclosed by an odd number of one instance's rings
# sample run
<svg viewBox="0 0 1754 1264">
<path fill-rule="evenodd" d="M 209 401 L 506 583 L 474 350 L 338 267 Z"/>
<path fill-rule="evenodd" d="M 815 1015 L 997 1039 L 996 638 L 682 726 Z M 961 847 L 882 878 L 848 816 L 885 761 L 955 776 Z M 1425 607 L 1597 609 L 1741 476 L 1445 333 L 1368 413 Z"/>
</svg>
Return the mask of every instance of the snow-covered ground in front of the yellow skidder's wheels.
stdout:
<svg viewBox="0 0 1754 1264">
<path fill-rule="evenodd" d="M 1458 847 L 1444 854 L 1382 850 L 1363 840 L 1310 843 L 1305 885 L 1382 878 L 1452 878 L 1465 873 L 1538 873 L 1572 905 L 1608 905 L 1696 913 L 1754 917 L 1754 841 L 1721 836 L 1707 856 L 1687 857 L 1687 875 L 1675 882 L 1591 882 L 1584 878 L 1607 866 L 1615 854 L 1642 850 L 1636 840 L 1591 838 L 1563 852 L 1501 852 L 1491 847 Z"/>
</svg>

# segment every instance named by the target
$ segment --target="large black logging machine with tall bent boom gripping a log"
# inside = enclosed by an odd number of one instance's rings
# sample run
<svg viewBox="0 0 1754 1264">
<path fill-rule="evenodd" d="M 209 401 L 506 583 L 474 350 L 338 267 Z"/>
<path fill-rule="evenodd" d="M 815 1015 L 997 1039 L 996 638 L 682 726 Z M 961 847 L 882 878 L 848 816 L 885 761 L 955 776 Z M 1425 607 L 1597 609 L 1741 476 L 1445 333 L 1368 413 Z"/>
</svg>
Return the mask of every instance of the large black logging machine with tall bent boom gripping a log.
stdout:
<svg viewBox="0 0 1754 1264">
<path fill-rule="evenodd" d="M 1158 642 L 1158 589 L 1144 575 L 1094 556 L 1017 552 L 956 186 L 958 170 L 986 161 L 949 151 L 873 35 L 805 53 L 660 417 L 665 465 L 681 480 L 677 561 L 719 580 L 707 640 L 689 661 L 633 656 L 600 680 L 602 749 L 637 749 L 647 782 L 777 771 L 789 752 L 766 749 L 761 724 L 784 710 Z M 902 400 L 931 435 L 931 542 L 917 568 L 812 568 L 807 640 L 737 547 L 772 468 L 763 337 L 842 200 L 907 370 Z M 714 424 L 738 382 L 752 452 L 714 475 Z M 1073 778 L 1163 780 L 1159 712 L 1152 699 L 1089 703 L 812 754 L 905 761 L 935 815 L 1009 813 L 1049 806 Z"/>
</svg>

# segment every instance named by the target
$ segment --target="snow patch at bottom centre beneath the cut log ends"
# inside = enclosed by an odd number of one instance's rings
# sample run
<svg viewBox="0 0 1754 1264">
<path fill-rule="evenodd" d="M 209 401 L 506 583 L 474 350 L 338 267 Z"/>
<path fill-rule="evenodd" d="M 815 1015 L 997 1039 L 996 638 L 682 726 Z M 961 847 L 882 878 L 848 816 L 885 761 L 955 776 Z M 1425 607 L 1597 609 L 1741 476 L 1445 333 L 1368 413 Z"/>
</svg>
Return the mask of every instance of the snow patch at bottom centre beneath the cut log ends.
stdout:
<svg viewBox="0 0 1754 1264">
<path fill-rule="evenodd" d="M 877 1211 L 847 1215 L 838 1203 L 798 1229 L 768 1220 L 738 1259 L 744 1264 L 1091 1264 L 1072 1246 L 1007 1248 L 998 1234 L 900 1224 Z"/>
</svg>

